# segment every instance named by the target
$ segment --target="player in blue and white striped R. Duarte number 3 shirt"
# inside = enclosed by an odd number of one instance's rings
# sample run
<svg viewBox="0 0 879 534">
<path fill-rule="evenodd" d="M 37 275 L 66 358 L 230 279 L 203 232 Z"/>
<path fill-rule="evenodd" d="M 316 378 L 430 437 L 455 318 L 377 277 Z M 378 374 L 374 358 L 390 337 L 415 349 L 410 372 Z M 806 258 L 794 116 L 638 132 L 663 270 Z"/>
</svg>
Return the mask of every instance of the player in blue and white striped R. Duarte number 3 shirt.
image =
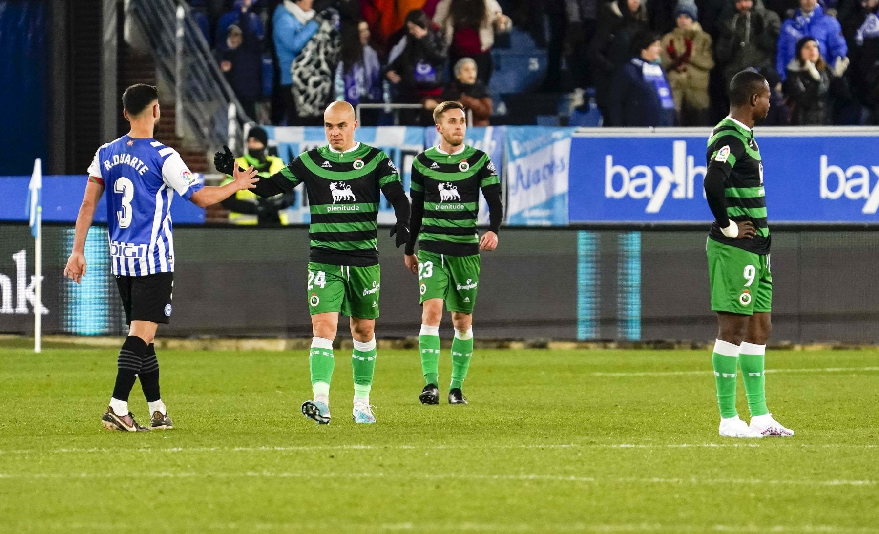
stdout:
<svg viewBox="0 0 879 534">
<path fill-rule="evenodd" d="M 64 276 L 77 284 L 85 276 L 85 238 L 106 189 L 111 271 L 130 329 L 117 360 L 113 397 L 101 422 L 105 429 L 129 432 L 171 429 L 159 393 L 159 362 L 153 346 L 159 323 L 171 320 L 175 260 L 171 199 L 177 191 L 198 206 L 210 206 L 253 187 L 257 171 L 236 170 L 229 184 L 202 187 L 176 150 L 153 139 L 160 116 L 156 88 L 132 85 L 122 95 L 122 106 L 131 131 L 95 153 Z M 151 415 L 149 428 L 139 425 L 128 411 L 128 394 L 138 377 Z"/>
</svg>

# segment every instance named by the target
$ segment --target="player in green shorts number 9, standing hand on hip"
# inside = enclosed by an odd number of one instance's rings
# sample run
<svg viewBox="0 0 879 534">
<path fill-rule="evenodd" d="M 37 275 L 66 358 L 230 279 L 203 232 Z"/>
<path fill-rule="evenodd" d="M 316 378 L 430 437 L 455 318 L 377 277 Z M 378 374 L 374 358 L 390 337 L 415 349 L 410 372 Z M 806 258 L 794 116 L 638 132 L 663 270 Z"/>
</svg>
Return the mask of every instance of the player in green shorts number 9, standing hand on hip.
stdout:
<svg viewBox="0 0 879 534">
<path fill-rule="evenodd" d="M 706 245 L 711 309 L 717 313 L 712 364 L 723 437 L 793 436 L 766 408 L 766 340 L 772 328 L 772 273 L 763 158 L 752 128 L 769 112 L 769 84 L 744 70 L 730 82 L 730 116 L 708 139 L 705 195 L 715 216 Z M 736 410 L 742 370 L 751 424 Z"/>
</svg>

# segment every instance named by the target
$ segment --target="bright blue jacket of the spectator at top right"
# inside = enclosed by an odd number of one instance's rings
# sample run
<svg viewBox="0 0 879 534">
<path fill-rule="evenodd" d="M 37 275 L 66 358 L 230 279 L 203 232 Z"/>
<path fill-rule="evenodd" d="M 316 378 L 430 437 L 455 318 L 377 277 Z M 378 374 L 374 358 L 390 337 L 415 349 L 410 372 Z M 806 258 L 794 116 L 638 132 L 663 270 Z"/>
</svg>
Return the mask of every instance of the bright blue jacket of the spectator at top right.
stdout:
<svg viewBox="0 0 879 534">
<path fill-rule="evenodd" d="M 839 21 L 827 15 L 817 0 L 800 0 L 800 9 L 781 24 L 775 70 L 782 80 L 787 76 L 788 63 L 796 56 L 796 43 L 803 37 L 812 37 L 817 42 L 821 57 L 834 68 L 837 61 L 844 61 L 848 55 Z"/>
</svg>

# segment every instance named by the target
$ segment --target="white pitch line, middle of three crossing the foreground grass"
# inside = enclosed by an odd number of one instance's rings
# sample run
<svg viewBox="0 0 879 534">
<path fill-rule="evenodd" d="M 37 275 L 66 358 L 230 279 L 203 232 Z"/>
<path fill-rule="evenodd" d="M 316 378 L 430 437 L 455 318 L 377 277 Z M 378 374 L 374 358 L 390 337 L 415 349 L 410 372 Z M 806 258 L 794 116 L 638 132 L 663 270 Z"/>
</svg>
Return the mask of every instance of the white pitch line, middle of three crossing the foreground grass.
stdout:
<svg viewBox="0 0 879 534">
<path fill-rule="evenodd" d="M 76 479 L 109 479 L 117 477 L 117 473 L 0 473 L 0 480 L 12 479 L 49 479 L 49 480 L 76 480 Z M 520 474 L 474 474 L 474 473 L 431 473 L 416 474 L 411 473 L 294 473 L 294 472 L 274 472 L 274 471 L 243 471 L 239 473 L 230 472 L 152 472 L 139 473 L 138 478 L 150 479 L 421 479 L 421 480 L 487 480 L 487 481 L 538 481 L 538 482 L 571 482 L 571 483 L 587 483 L 587 484 L 668 484 L 668 485 L 694 485 L 694 486 L 713 486 L 713 485 L 772 485 L 772 486 L 875 486 L 876 480 L 761 480 L 761 479 L 679 479 L 679 478 L 618 478 L 618 479 L 597 479 L 595 477 L 582 477 L 577 475 L 551 475 L 541 473 L 520 473 Z"/>
</svg>

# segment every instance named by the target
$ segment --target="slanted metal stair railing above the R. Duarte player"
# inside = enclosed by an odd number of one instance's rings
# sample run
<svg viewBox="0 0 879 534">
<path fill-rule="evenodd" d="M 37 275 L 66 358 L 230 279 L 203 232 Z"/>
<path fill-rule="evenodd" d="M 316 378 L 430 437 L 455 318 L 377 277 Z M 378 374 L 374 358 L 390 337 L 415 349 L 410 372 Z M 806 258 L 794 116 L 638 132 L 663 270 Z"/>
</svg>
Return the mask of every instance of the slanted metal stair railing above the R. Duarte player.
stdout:
<svg viewBox="0 0 879 534">
<path fill-rule="evenodd" d="M 175 0 L 129 0 L 127 17 L 141 28 L 158 74 L 174 91 L 176 133 L 193 136 L 209 149 L 229 144 L 235 151 L 240 125 L 250 122 L 190 8 Z"/>
</svg>

